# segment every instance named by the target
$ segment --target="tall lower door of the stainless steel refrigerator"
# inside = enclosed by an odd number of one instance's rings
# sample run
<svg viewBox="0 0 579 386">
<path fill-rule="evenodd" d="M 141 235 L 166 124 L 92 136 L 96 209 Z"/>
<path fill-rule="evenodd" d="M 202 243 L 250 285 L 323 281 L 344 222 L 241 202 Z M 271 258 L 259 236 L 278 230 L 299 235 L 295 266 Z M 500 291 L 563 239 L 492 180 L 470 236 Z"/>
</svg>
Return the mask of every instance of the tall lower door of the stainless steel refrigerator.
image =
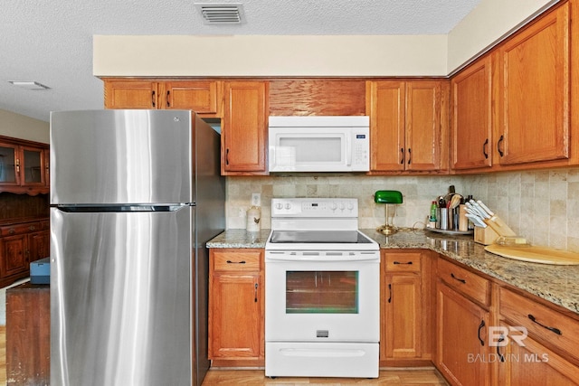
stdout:
<svg viewBox="0 0 579 386">
<path fill-rule="evenodd" d="M 51 384 L 192 383 L 194 211 L 51 208 Z"/>
</svg>

